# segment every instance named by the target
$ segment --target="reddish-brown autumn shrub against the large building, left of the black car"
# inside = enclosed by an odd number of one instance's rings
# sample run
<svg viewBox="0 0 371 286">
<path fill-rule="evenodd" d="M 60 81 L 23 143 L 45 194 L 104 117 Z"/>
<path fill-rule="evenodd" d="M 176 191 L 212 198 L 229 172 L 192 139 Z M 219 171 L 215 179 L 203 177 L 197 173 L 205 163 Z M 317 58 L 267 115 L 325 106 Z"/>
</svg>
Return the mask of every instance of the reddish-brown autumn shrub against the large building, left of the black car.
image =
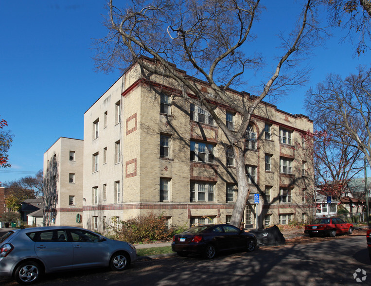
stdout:
<svg viewBox="0 0 371 286">
<path fill-rule="evenodd" d="M 167 218 L 164 215 L 141 215 L 128 220 L 116 221 L 115 217 L 111 218 L 109 236 L 124 240 L 131 243 L 149 242 L 157 240 L 167 240 L 176 232 L 183 230 L 176 226 L 167 227 Z"/>
</svg>

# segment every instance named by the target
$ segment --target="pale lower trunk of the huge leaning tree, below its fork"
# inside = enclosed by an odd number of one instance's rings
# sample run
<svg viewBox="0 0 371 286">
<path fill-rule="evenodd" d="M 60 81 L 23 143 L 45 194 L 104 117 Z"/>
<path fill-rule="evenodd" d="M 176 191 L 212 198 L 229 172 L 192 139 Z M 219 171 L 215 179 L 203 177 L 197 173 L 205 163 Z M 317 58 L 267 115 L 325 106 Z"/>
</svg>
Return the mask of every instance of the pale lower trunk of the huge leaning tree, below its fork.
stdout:
<svg viewBox="0 0 371 286">
<path fill-rule="evenodd" d="M 243 141 L 243 140 L 242 140 Z M 244 210 L 246 207 L 247 198 L 250 195 L 250 189 L 247 184 L 246 170 L 245 170 L 245 142 L 238 142 L 233 145 L 233 153 L 235 158 L 238 193 L 234 204 L 230 224 L 240 227 Z"/>
</svg>

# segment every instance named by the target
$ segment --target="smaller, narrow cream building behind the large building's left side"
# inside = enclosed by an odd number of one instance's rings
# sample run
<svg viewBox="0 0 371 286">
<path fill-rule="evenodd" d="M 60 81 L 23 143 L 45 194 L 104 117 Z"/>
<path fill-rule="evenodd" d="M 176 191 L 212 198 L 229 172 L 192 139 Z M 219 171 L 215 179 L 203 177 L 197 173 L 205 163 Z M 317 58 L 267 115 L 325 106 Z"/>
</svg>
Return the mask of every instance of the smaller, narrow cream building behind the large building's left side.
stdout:
<svg viewBox="0 0 371 286">
<path fill-rule="evenodd" d="M 82 226 L 83 140 L 60 137 L 44 153 L 44 225 Z"/>
</svg>

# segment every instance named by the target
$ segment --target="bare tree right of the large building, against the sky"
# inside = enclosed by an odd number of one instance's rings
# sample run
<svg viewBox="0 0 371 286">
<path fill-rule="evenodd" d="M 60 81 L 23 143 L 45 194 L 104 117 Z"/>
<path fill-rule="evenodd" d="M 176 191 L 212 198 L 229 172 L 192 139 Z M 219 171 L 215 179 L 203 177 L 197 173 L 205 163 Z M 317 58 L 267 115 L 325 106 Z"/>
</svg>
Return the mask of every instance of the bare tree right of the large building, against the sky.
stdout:
<svg viewBox="0 0 371 286">
<path fill-rule="evenodd" d="M 327 173 L 323 173 L 327 178 L 323 179 L 341 180 L 354 175 L 361 167 L 362 155 L 369 164 L 371 162 L 370 76 L 371 69 L 366 67 L 359 67 L 358 74 L 351 74 L 345 80 L 330 74 L 306 93 L 310 116 L 317 122 L 318 129 L 327 132 L 331 141 L 330 148 L 322 147 L 323 161 L 328 161 L 324 166 Z M 329 158 L 333 152 L 335 156 Z"/>
</svg>

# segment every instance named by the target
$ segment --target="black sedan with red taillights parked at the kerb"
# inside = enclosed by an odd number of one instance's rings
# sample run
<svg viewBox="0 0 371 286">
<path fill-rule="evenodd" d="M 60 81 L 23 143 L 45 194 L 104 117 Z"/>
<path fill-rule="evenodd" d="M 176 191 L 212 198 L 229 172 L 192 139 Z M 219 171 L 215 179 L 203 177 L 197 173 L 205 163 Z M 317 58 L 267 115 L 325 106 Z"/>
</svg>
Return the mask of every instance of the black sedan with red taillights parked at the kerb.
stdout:
<svg viewBox="0 0 371 286">
<path fill-rule="evenodd" d="M 194 226 L 183 233 L 174 235 L 171 249 L 179 256 L 190 253 L 202 254 L 212 259 L 219 251 L 253 251 L 256 238 L 252 233 L 229 224 L 206 224 Z"/>
</svg>

